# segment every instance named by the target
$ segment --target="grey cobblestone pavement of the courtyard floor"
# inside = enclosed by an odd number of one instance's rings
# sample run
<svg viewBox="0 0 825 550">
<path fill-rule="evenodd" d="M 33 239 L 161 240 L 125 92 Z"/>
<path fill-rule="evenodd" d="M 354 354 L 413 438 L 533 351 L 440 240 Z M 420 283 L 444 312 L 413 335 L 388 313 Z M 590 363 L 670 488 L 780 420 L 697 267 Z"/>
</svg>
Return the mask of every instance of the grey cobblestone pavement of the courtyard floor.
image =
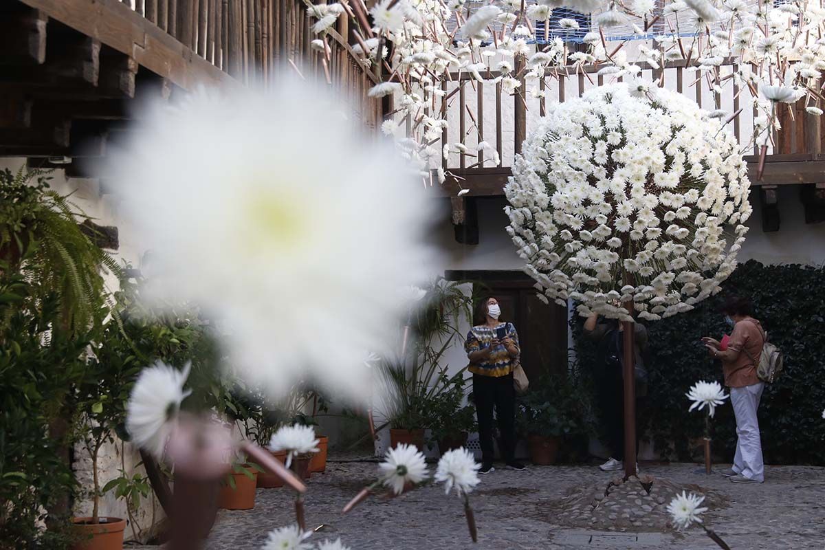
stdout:
<svg viewBox="0 0 825 550">
<path fill-rule="evenodd" d="M 643 473 L 653 477 L 721 493 L 726 507 L 711 510 L 705 522 L 733 550 L 825 548 L 825 468 L 767 467 L 766 482 L 761 485 L 736 485 L 718 474 L 697 475 L 695 468 L 684 463 L 642 465 Z M 497 469 L 482 477 L 471 495 L 479 524 L 478 544 L 469 540 L 460 499 L 455 494 L 446 496 L 440 486 L 423 487 L 389 501 L 371 497 L 342 515 L 343 505 L 375 472 L 374 462 L 331 461 L 327 472 L 313 474 L 305 500 L 307 525 L 324 527 L 312 539 L 341 537 L 353 550 L 718 548 L 698 527 L 674 534 L 655 529 L 629 533 L 560 526 L 549 503 L 573 487 L 606 485 L 615 477 L 595 466 L 534 466 L 526 472 Z M 253 510 L 219 512 L 206 550 L 260 548 L 270 529 L 294 520 L 289 492 L 258 489 Z M 158 550 L 144 547 L 151 548 Z"/>
</svg>

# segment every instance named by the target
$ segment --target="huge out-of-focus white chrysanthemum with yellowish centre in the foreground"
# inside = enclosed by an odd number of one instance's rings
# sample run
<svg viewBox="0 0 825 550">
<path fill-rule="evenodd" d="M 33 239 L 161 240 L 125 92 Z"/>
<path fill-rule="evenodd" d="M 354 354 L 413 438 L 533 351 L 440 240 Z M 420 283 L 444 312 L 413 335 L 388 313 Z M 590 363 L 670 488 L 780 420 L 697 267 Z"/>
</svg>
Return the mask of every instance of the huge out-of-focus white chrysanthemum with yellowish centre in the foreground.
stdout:
<svg viewBox="0 0 825 550">
<path fill-rule="evenodd" d="M 365 401 L 364 350 L 394 346 L 398 288 L 437 264 L 432 201 L 323 88 L 225 93 L 157 106 L 111 155 L 130 234 L 157 260 L 144 296 L 200 305 L 228 364 L 273 396 L 312 378 Z"/>
</svg>

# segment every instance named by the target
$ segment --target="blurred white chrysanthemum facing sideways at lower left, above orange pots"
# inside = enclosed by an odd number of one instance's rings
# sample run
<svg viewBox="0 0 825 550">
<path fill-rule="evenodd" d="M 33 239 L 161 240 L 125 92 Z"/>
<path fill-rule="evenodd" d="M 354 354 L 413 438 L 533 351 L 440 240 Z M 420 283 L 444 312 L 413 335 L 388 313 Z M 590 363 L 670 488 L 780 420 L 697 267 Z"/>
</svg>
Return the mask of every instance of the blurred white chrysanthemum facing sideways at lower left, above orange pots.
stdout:
<svg viewBox="0 0 825 550">
<path fill-rule="evenodd" d="M 183 390 L 190 367 L 186 363 L 181 371 L 158 361 L 143 369 L 126 402 L 126 430 L 132 442 L 155 458 L 163 458 L 181 402 L 191 393 Z"/>
</svg>

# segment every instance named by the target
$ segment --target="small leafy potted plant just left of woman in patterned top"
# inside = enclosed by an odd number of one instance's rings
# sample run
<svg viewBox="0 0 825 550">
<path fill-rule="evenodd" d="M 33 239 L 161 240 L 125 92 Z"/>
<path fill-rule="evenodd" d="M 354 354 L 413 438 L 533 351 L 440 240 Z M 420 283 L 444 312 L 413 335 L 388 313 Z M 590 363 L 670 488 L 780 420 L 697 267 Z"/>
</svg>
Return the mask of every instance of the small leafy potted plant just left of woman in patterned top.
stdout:
<svg viewBox="0 0 825 550">
<path fill-rule="evenodd" d="M 451 378 L 442 373 L 439 377 L 441 392 L 431 397 L 428 427 L 431 441 L 438 445 L 441 454 L 467 444 L 469 432 L 475 430 L 475 407 L 465 401 L 464 388 L 467 380 L 464 369 Z"/>
</svg>

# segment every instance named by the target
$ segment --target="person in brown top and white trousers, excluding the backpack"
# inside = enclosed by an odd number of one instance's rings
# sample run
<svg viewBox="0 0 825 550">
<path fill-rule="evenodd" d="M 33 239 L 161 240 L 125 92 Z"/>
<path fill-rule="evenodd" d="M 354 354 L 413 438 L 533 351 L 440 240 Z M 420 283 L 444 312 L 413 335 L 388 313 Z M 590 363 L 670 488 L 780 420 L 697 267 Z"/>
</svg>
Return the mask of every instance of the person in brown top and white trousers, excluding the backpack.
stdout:
<svg viewBox="0 0 825 550">
<path fill-rule="evenodd" d="M 765 383 L 757 377 L 757 361 L 765 345 L 765 331 L 752 317 L 751 303 L 746 298 L 729 298 L 720 311 L 733 327 L 730 340 L 723 346 L 705 336 L 702 342 L 710 355 L 722 361 L 724 383 L 730 388 L 730 402 L 736 416 L 738 440 L 733 468 L 722 475 L 734 483 L 761 483 L 765 481 L 765 465 L 757 409 Z"/>
</svg>

